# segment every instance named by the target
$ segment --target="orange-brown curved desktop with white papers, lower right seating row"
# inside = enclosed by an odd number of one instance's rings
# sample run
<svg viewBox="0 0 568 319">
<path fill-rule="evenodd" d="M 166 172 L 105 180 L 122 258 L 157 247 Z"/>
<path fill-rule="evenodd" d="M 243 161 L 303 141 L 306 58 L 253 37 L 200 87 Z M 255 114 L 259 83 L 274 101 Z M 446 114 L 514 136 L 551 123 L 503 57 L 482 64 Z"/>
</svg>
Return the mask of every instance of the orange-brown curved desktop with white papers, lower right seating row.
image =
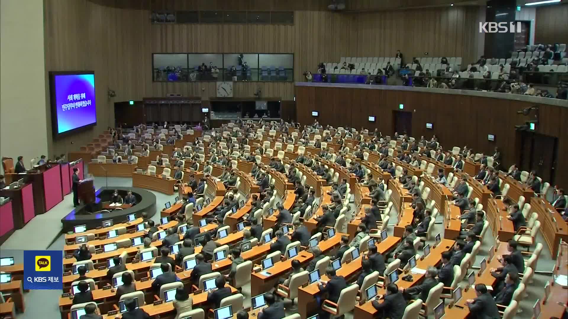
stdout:
<svg viewBox="0 0 568 319">
<path fill-rule="evenodd" d="M 432 248 L 430 250 L 430 254 L 427 257 L 425 257 L 424 260 L 416 261 L 416 267 L 421 269 L 426 269 L 428 266 L 437 265 L 438 263 L 440 263 L 441 253 L 448 250 L 453 245 L 454 245 L 453 240 L 448 240 L 445 238 L 442 239 L 440 245 L 436 246 L 436 248 Z M 406 282 L 402 279 L 397 280 L 396 285 L 398 286 L 399 289 L 401 288 L 407 289 L 413 287 L 418 282 L 420 282 L 420 280 L 424 277 L 424 275 L 422 274 L 412 274 L 411 272 L 409 272 L 408 274 L 412 275 L 412 282 Z M 378 295 L 385 294 L 385 288 L 379 289 L 377 294 Z M 358 319 L 374 318 L 376 314 L 377 314 L 377 309 L 375 309 L 373 305 L 371 305 L 370 301 L 367 301 L 363 305 L 356 305 L 355 309 L 353 310 L 353 317 Z"/>
</svg>

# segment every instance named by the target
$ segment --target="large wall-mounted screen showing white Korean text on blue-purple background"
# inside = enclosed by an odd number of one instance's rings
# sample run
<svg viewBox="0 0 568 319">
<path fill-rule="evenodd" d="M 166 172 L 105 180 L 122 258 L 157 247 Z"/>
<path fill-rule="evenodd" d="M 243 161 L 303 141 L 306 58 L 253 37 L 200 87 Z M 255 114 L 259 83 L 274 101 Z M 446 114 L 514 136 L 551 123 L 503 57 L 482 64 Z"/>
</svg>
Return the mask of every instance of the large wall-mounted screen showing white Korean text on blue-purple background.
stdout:
<svg viewBox="0 0 568 319">
<path fill-rule="evenodd" d="M 97 125 L 95 73 L 49 72 L 53 136 Z"/>
</svg>

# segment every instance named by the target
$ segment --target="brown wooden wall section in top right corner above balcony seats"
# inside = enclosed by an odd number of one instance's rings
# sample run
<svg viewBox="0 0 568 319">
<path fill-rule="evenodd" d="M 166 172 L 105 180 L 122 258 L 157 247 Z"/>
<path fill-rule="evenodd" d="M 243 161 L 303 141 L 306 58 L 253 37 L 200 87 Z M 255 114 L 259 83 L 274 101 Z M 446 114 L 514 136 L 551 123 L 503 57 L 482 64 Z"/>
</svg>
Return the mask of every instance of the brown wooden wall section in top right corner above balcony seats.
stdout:
<svg viewBox="0 0 568 319">
<path fill-rule="evenodd" d="M 534 43 L 566 43 L 568 39 L 568 3 L 536 8 Z"/>
</svg>

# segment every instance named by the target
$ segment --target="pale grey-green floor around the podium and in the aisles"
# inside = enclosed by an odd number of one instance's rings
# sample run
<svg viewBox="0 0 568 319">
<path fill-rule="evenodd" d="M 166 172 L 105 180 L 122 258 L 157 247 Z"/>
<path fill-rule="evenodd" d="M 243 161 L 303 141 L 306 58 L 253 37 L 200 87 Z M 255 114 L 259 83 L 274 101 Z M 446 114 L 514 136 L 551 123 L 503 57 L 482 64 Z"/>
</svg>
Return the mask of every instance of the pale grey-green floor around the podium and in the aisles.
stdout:
<svg viewBox="0 0 568 319">
<path fill-rule="evenodd" d="M 130 187 L 132 186 L 132 180 L 130 178 L 95 178 L 94 184 L 95 188 L 100 188 L 106 186 L 119 186 L 119 187 Z M 159 210 L 163 207 L 163 203 L 168 201 L 173 201 L 175 195 L 169 196 L 161 194 L 158 192 L 153 192 L 156 195 L 156 207 L 157 214 L 152 218 L 154 221 L 158 221 Z M 351 204 L 353 205 L 353 204 Z M 68 214 L 73 208 L 73 198 L 72 195 L 65 196 L 63 202 L 56 205 L 47 213 L 36 216 L 30 223 L 28 223 L 23 229 L 16 230 L 14 234 L 7 240 L 2 246 L 0 246 L 0 255 L 2 256 L 14 256 L 16 263 L 23 262 L 23 251 L 29 249 L 49 249 L 49 250 L 62 250 L 64 246 L 64 236 L 61 233 L 61 218 Z M 352 207 L 354 208 L 354 207 Z M 390 224 L 389 224 L 389 234 L 392 235 L 393 226 L 396 224 L 397 212 L 393 209 L 390 212 Z M 435 224 L 435 233 L 444 233 L 442 224 Z M 442 236 L 443 237 L 443 236 Z M 481 251 L 479 252 L 474 265 L 479 265 L 479 262 L 486 257 L 488 249 L 494 245 L 492 238 L 495 236 L 486 236 L 488 240 L 483 243 Z M 539 236 L 540 237 L 540 236 Z M 538 238 L 540 242 L 544 242 L 542 238 Z M 420 251 L 420 253 L 422 253 Z M 550 251 L 548 247 L 544 245 L 542 254 L 537 264 L 538 271 L 551 271 L 554 265 L 554 261 L 550 257 Z M 550 279 L 550 275 L 534 275 L 534 283 L 527 287 L 528 297 L 524 298 L 520 303 L 520 308 L 523 310 L 522 313 L 517 314 L 515 318 L 531 318 L 532 317 L 532 306 L 534 302 L 544 295 L 544 285 L 547 280 Z M 462 284 L 462 285 L 465 285 Z M 26 312 L 18 314 L 18 319 L 36 319 L 36 318 L 59 318 L 60 312 L 57 303 L 60 296 L 60 291 L 49 291 L 49 290 L 36 290 L 27 292 L 24 295 L 24 300 L 26 302 Z M 243 289 L 243 295 L 245 296 L 244 307 L 250 307 L 250 286 L 247 285 Z M 41 300 L 41 302 L 38 302 Z M 294 309 L 287 309 L 287 315 L 293 314 Z M 348 313 L 345 316 L 348 319 L 353 317 L 352 313 Z"/>
</svg>

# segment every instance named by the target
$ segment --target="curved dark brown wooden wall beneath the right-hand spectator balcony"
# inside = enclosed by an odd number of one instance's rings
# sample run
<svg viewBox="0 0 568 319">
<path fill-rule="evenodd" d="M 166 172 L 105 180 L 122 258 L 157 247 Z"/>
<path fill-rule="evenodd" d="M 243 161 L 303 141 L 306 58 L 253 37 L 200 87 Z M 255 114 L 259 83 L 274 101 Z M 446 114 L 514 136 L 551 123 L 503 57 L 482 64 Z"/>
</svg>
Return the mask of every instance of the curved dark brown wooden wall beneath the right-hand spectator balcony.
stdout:
<svg viewBox="0 0 568 319">
<path fill-rule="evenodd" d="M 561 165 L 558 165 L 556 182 L 568 187 L 568 169 L 562 165 L 568 162 L 568 131 L 562 125 L 562 119 L 568 116 L 566 107 L 444 93 L 296 86 L 296 115 L 301 124 L 312 123 L 311 111 L 319 111 L 318 120 L 322 125 L 376 127 L 383 135 L 392 135 L 393 111 L 398 111 L 400 103 L 404 104 L 404 111 L 412 112 L 412 136 L 424 135 L 429 139 L 436 134 L 445 148 L 467 146 L 486 154 L 492 154 L 498 146 L 506 165 L 520 158 L 520 137 L 515 125 L 529 120 L 516 112 L 538 105 L 537 132 L 558 137 Z M 370 123 L 369 115 L 377 116 L 377 121 Z M 434 128 L 427 129 L 426 123 L 433 123 Z M 494 142 L 487 140 L 488 134 L 495 135 Z"/>
</svg>

